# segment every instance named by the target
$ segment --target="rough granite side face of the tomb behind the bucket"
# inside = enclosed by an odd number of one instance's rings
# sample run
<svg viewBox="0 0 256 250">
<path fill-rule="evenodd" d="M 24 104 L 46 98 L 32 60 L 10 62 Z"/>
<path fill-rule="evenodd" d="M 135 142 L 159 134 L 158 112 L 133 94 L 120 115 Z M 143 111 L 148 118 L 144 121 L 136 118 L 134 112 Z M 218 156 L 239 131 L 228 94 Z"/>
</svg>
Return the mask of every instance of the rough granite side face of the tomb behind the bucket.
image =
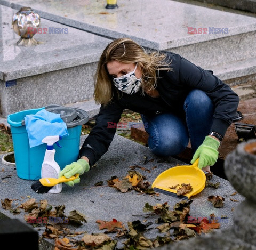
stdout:
<svg viewBox="0 0 256 250">
<path fill-rule="evenodd" d="M 97 62 L 94 62 L 39 75 L 35 71 L 34 76 L 19 78 L 17 85 L 11 87 L 6 87 L 6 82 L 0 80 L 1 116 L 54 103 L 65 105 L 93 98 L 96 67 Z"/>
</svg>

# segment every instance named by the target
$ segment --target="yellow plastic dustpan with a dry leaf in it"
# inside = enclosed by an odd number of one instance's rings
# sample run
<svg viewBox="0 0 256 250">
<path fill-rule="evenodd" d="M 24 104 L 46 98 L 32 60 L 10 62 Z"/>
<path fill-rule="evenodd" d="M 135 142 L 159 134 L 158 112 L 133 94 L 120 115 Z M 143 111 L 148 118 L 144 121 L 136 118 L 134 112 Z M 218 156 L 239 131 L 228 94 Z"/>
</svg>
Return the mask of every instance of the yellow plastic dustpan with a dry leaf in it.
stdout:
<svg viewBox="0 0 256 250">
<path fill-rule="evenodd" d="M 180 199 L 189 199 L 191 196 L 201 192 L 205 187 L 206 176 L 205 173 L 198 168 L 199 158 L 193 163 L 193 165 L 183 165 L 169 168 L 163 173 L 159 174 L 152 184 L 152 188 L 155 192 L 164 193 L 178 197 Z M 177 189 L 171 189 L 177 184 L 182 183 L 190 184 L 192 191 L 178 196 Z"/>
</svg>

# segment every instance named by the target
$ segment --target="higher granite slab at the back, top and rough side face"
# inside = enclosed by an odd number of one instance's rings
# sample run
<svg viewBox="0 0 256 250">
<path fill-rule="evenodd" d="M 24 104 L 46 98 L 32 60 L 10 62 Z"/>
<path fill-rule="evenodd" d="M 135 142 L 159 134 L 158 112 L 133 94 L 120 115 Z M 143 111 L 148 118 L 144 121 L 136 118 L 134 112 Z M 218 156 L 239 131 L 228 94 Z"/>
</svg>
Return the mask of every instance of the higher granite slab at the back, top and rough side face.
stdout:
<svg viewBox="0 0 256 250">
<path fill-rule="evenodd" d="M 0 3 L 29 5 L 43 18 L 111 39 L 130 37 L 149 50 L 171 50 L 201 67 L 256 57 L 256 18 L 242 14 L 171 0 L 119 0 L 114 10 L 105 9 L 105 0 L 75 1 L 75 10 L 68 0 L 61 8 L 43 0 Z"/>
</svg>

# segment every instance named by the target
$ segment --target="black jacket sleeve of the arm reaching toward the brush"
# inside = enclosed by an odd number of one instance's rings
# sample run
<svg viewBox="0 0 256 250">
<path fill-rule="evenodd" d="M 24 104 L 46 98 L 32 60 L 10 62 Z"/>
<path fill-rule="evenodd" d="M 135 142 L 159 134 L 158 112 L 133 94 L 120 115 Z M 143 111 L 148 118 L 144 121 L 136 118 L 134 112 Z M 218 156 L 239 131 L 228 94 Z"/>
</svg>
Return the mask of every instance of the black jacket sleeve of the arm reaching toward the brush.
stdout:
<svg viewBox="0 0 256 250">
<path fill-rule="evenodd" d="M 99 114 L 95 119 L 95 126 L 85 139 L 79 151 L 79 157 L 86 156 L 92 166 L 100 157 L 105 154 L 116 132 L 116 125 L 119 122 L 123 108 L 112 102 L 107 106 L 101 105 Z"/>
</svg>

